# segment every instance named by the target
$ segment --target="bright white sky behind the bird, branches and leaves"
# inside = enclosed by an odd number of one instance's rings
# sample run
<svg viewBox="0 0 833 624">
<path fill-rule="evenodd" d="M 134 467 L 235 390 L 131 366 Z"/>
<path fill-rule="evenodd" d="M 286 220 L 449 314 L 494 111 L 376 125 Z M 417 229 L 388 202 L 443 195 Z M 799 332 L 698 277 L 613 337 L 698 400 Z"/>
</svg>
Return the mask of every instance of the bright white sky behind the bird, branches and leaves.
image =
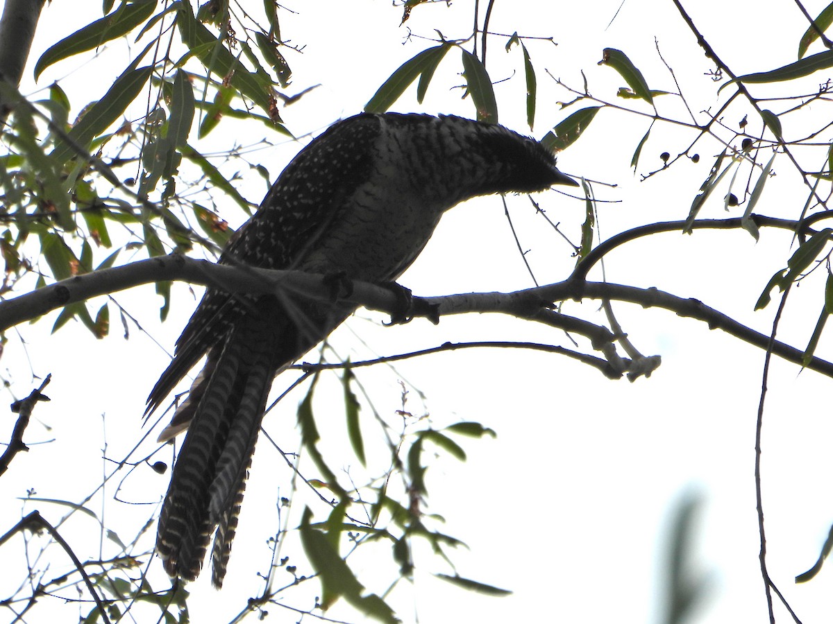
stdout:
<svg viewBox="0 0 833 624">
<path fill-rule="evenodd" d="M 250 4 L 260 10 L 260 2 Z M 591 92 L 614 99 L 623 81 L 611 68 L 596 66 L 604 47 L 624 50 L 641 68 L 651 88 L 672 91 L 671 77 L 656 56 L 655 36 L 684 92 L 691 96 L 692 108 L 700 111 L 715 104 L 716 84 L 702 76 L 711 65 L 671 2 L 626 2 L 610 28 L 606 26 L 616 13 L 618 0 L 593 2 L 592 9 L 575 4 L 496 3 L 493 29 L 501 31 L 501 25 L 511 24 L 506 27 L 525 35 L 552 36 L 559 44 L 554 51 L 546 42 L 527 44 L 541 88 L 534 136 L 540 138 L 570 112 L 556 106 L 556 100 L 567 98 L 551 89 L 545 67 L 576 88 L 581 88 L 579 70 L 584 69 Z M 686 8 L 706 38 L 736 72 L 762 71 L 795 60 L 806 22 L 792 3 L 782 3 L 771 12 L 761 11 L 760 2 L 687 4 L 691 4 Z M 47 6 L 32 63 L 52 42 L 98 17 L 100 4 L 90 5 L 89 12 L 80 11 L 79 3 L 67 0 Z M 813 15 L 825 5 L 806 2 Z M 446 37 L 465 37 L 471 30 L 469 6 L 456 2 L 451 9 L 441 4 L 418 7 L 407 26 L 415 34 L 428 37 L 434 36 L 433 27 L 440 27 Z M 407 33 L 405 28 L 397 28 L 401 13 L 386 3 L 299 2 L 291 8 L 300 14 L 292 17 L 282 13 L 282 34 L 308 45 L 304 54 L 287 57 L 294 72 L 288 91 L 322 85 L 299 104 L 282 111 L 287 125 L 298 136 L 307 132 L 317 135 L 337 118 L 360 111 L 394 69 L 431 45 L 415 40 L 402 46 Z M 503 42 L 495 37 L 489 43 L 493 79 L 521 71 L 521 52 L 515 49 L 507 58 Z M 474 115 L 471 102 L 460 101 L 459 90 L 446 91 L 447 86 L 460 83 L 460 78 L 454 76 L 460 67 L 452 58 L 455 54 L 449 52 L 441 65 L 420 111 Z M 127 59 L 123 45 L 112 45 L 88 64 L 79 59 L 62 62 L 37 86 L 31 82 L 32 73 L 27 72 L 22 90 L 33 92 L 73 72 L 61 83 L 70 92 L 73 104 L 81 105 L 100 97 L 112 82 L 110 68 L 124 67 Z M 521 102 L 523 89 L 518 84 L 521 80 L 519 74 L 496 87 L 496 93 L 501 122 L 528 132 Z M 820 80 L 815 77 L 807 82 L 810 87 L 806 92 L 811 92 L 817 82 Z M 679 104 L 664 97 L 657 100 L 657 106 L 662 113 L 676 111 Z M 828 102 L 816 103 L 811 110 L 830 116 L 826 112 L 829 106 Z M 416 110 L 413 91 L 397 103 L 395 110 Z M 730 113 L 726 124 L 735 128 L 740 117 Z M 601 198 L 621 201 L 600 205 L 604 237 L 652 220 L 685 218 L 716 155 L 716 144 L 708 143 L 701 151 L 699 165 L 681 162 L 673 171 L 640 183 L 638 176 L 631 176 L 627 163 L 646 128 L 647 121 L 602 111 L 581 140 L 561 155 L 562 171 L 619 185 L 616 190 L 596 186 Z M 791 132 L 786 121 L 785 130 L 786 134 Z M 800 134 L 796 131 L 795 136 Z M 229 136 L 223 134 L 222 126 L 212 135 L 212 141 L 223 148 L 234 141 L 249 144 L 260 138 Z M 259 151 L 249 158 L 262 162 L 274 178 L 300 145 L 281 136 L 270 140 L 282 147 Z M 643 150 L 645 164 L 640 171 L 656 168 L 661 151 L 674 154 L 689 140 L 688 135 L 675 129 L 657 126 Z M 786 161 L 776 159 L 776 172 L 779 176 L 768 183 L 768 193 L 756 212 L 795 217 L 805 201 L 805 191 L 796 186 L 796 176 Z M 265 184 L 257 176 L 244 173 L 242 194 L 259 201 L 266 191 Z M 702 216 L 720 218 L 726 214 L 718 195 Z M 536 199 L 553 220 L 561 221 L 568 235 L 578 239 L 583 201 L 554 192 Z M 563 279 L 573 264 L 566 245 L 532 214 L 526 198 L 509 201 L 522 244 L 531 249 L 527 257 L 538 280 L 546 283 Z M 221 214 L 238 225 L 240 211 L 230 207 L 226 213 L 223 206 Z M 740 230 L 711 235 L 702 231 L 692 236 L 666 234 L 626 245 L 611 254 L 607 277 L 696 297 L 767 332 L 776 305 L 758 313 L 752 308 L 766 281 L 786 265 L 790 243 L 788 233 L 771 230 L 762 231 L 757 245 Z M 122 260 L 127 260 L 127 255 Z M 531 285 L 497 197 L 469 202 L 446 215 L 421 258 L 401 281 L 418 295 L 516 290 Z M 781 339 L 800 348 L 806 344 L 821 307 L 821 284 L 820 276 L 814 276 L 791 293 Z M 114 310 L 111 336 L 102 341 L 92 339 L 80 325 L 50 336 L 55 314 L 38 324 L 18 328 L 26 349 L 10 334 L 12 340 L 3 354 L 2 366 L 14 384 L 15 398 L 27 394 L 32 384 L 37 385 L 32 381 L 32 371 L 40 377 L 52 373 L 52 384 L 47 389 L 52 403 L 38 405 L 35 417 L 39 422 L 32 423 L 26 438 L 32 449 L 18 455 L 9 473 L 0 479 L 0 526 L 11 527 L 20 518 L 22 503 L 16 498 L 24 495 L 26 488 L 36 488 L 43 498 L 80 500 L 92 490 L 93 483 L 101 480 L 102 473 L 112 470 L 112 464 L 102 463 L 104 440 L 107 457 L 123 458 L 146 433 L 139 418 L 144 400 L 167 364 L 167 355 L 152 339 L 172 350 L 193 308 L 187 286 L 177 290 L 166 324 L 158 323 L 161 300 L 152 287 L 117 295 L 119 303 L 147 330 L 142 334 L 133 326 L 129 342 L 120 337 L 122 331 Z M 578 306 L 570 304 L 567 311 L 577 312 Z M 596 309 L 592 302 L 581 306 Z M 91 308 L 97 310 L 97 305 Z M 696 522 L 695 569 L 708 575 L 709 594 L 701 602 L 700 619 L 696 621 L 765 621 L 753 479 L 764 354 L 725 334 L 710 332 L 704 324 L 668 312 L 627 305 L 615 305 L 615 309 L 644 354 L 662 355 L 663 364 L 651 379 L 639 379 L 636 384 L 612 382 L 595 370 L 556 355 L 514 350 L 434 355 L 397 364 L 395 372 L 377 367 L 375 373 L 360 373 L 382 414 L 392 414 L 400 407 L 398 379 L 406 379 L 426 395 L 422 404 L 412 390 L 409 409 L 414 414 L 430 412 L 436 428 L 458 420 L 476 420 L 498 433 L 496 440 L 462 439 L 469 453 L 466 463 L 444 455 L 431 464 L 426 512 L 442 513 L 446 525 L 438 528 L 469 545 L 468 551 L 453 552 L 461 576 L 506 587 L 514 594 L 483 597 L 432 579 L 431 572 L 451 570 L 425 548 L 416 555 L 415 584 L 403 582 L 392 594 L 391 602 L 400 617 L 406 621 L 418 617 L 420 622 L 458 622 L 461 618 L 478 622 L 658 622 L 663 590 L 661 557 L 667 550 L 666 519 L 687 494 L 699 493 L 705 506 Z M 416 320 L 403 327 L 383 328 L 365 321 L 367 316 L 360 312 L 333 337 L 340 354 L 351 354 L 356 359 L 372 352 L 393 354 L 446 340 L 531 339 L 569 346 L 560 332 L 513 319 L 467 316 L 442 319 L 437 327 Z M 596 319 L 601 322 L 601 316 Z M 372 351 L 358 344 L 353 332 Z M 822 357 L 827 354 L 830 359 L 829 345 L 829 340 L 823 341 L 817 353 Z M 586 344 L 582 348 L 586 349 Z M 815 562 L 833 522 L 833 503 L 827 495 L 833 468 L 828 449 L 830 384 L 821 375 L 800 374 L 795 365 L 773 360 L 763 439 L 768 562 L 771 576 L 803 622 L 828 621 L 833 612 L 830 569 L 805 585 L 792 582 L 797 573 Z M 276 387 L 283 385 L 279 381 Z M 338 433 L 343 430 L 340 391 L 335 385 L 329 386 L 335 395 L 329 405 L 326 389 L 319 390 L 317 404 L 324 448 L 347 447 L 346 438 Z M 278 443 L 294 439 L 294 413 L 301 398 L 299 393 L 290 396 L 267 417 L 265 426 Z M 370 420 L 367 406 L 363 414 Z M 368 424 L 365 432 L 372 438 L 377 429 Z M 154 430 L 152 438 L 156 435 Z M 55 442 L 37 445 L 39 440 L 52 438 Z M 145 443 L 147 453 L 152 448 L 150 442 Z M 352 462 L 351 470 L 359 469 L 349 450 L 344 457 L 345 468 Z M 169 459 L 170 451 L 163 450 L 157 458 Z M 165 492 L 167 479 L 167 474 L 158 477 L 140 466 L 127 478 L 122 498 L 156 504 Z M 291 479 L 277 453 L 262 439 L 227 587 L 214 592 L 208 574 L 189 586 L 194 593 L 193 622 L 228 621 L 245 606 L 246 598 L 258 591 L 252 587 L 262 587 L 255 572 L 267 569 L 264 540 L 274 530 L 271 527 L 277 526 L 274 500 L 287 495 Z M 116 483 L 108 485 L 104 497 L 107 526 L 126 524 L 135 527 L 135 532 L 149 515 L 147 508 L 112 503 L 115 487 Z M 100 498 L 90 506 L 99 512 Z M 45 504 L 38 507 L 51 521 L 65 513 L 63 508 Z M 291 526 L 297 524 L 302 508 L 300 502 L 292 508 Z M 26 512 L 31 509 L 25 506 Z M 319 509 L 316 518 L 323 519 L 323 513 Z M 97 537 L 95 522 L 73 518 L 65 530 L 75 539 L 73 546 L 82 559 L 97 556 L 97 539 L 86 550 L 83 546 L 85 535 Z M 131 534 L 129 529 L 126 533 Z M 17 540 L 7 544 L 0 552 L 5 563 L 0 566 L 2 597 L 20 578 L 9 564 L 22 560 L 21 543 Z M 282 554 L 293 557 L 297 552 L 287 547 Z M 378 578 L 374 575 L 377 562 L 356 563 L 360 580 L 374 592 L 384 591 L 384 580 L 395 572 L 387 563 L 387 547 L 383 555 L 385 567 Z M 304 573 L 300 553 L 293 560 L 299 565 L 299 573 Z M 58 559 L 52 571 L 57 574 L 63 565 Z M 165 587 L 158 562 L 152 563 L 152 574 L 154 587 Z M 278 574 L 284 574 L 287 582 L 291 580 L 287 572 Z M 287 602 L 301 608 L 311 606 L 295 600 L 295 596 L 290 595 Z M 54 602 L 56 612 L 67 620 L 67 607 Z M 88 610 L 89 606 L 84 605 L 79 611 L 86 614 Z M 297 615 L 280 607 L 270 611 L 277 622 L 297 620 Z M 776 612 L 779 621 L 787 621 L 781 607 L 776 607 Z M 358 619 L 341 604 L 327 615 Z M 42 620 L 33 616 L 30 621 Z"/>
</svg>

